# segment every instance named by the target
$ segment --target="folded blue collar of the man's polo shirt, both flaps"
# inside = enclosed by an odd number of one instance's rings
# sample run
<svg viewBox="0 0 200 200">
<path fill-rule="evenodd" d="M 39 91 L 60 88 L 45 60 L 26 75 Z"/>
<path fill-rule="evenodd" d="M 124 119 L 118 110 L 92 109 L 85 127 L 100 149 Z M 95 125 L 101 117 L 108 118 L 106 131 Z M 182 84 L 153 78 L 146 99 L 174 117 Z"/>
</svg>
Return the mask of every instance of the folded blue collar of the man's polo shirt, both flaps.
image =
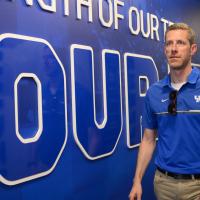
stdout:
<svg viewBox="0 0 200 200">
<path fill-rule="evenodd" d="M 196 67 L 192 68 L 191 73 L 188 76 L 187 79 L 187 83 L 190 84 L 196 84 L 198 78 L 199 78 L 199 69 L 197 69 Z M 171 87 L 171 78 L 170 78 L 170 74 L 168 74 L 167 76 L 165 76 L 162 80 L 161 80 L 161 84 L 163 86 L 169 86 Z"/>
</svg>

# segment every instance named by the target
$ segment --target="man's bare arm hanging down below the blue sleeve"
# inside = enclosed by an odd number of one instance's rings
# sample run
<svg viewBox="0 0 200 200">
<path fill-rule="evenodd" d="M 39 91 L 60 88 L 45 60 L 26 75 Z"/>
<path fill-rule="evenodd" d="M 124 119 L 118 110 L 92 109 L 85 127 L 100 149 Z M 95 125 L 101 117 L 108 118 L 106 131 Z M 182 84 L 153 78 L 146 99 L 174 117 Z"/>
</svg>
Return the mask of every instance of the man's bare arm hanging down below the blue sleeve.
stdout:
<svg viewBox="0 0 200 200">
<path fill-rule="evenodd" d="M 140 144 L 137 167 L 129 198 L 130 200 L 141 200 L 142 196 L 142 177 L 151 160 L 156 146 L 156 130 L 145 129 L 142 142 Z"/>
</svg>

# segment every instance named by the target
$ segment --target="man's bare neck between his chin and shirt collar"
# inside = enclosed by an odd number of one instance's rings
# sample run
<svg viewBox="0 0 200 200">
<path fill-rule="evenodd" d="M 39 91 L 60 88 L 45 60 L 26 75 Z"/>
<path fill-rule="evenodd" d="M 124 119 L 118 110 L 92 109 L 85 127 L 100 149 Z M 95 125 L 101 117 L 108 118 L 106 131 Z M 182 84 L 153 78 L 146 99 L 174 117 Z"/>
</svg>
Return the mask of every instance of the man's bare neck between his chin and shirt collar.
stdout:
<svg viewBox="0 0 200 200">
<path fill-rule="evenodd" d="M 170 77 L 173 83 L 183 83 L 187 81 L 188 75 L 192 71 L 192 66 L 187 66 L 184 69 L 171 69 Z"/>
</svg>

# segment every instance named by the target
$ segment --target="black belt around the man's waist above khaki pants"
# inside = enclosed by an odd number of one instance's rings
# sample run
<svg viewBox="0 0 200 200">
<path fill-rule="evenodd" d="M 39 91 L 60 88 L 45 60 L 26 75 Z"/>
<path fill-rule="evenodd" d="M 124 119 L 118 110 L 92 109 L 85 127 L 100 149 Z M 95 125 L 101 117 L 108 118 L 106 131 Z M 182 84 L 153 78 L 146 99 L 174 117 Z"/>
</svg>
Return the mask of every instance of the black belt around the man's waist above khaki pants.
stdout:
<svg viewBox="0 0 200 200">
<path fill-rule="evenodd" d="M 168 172 L 163 169 L 160 169 L 159 167 L 157 167 L 157 170 L 175 179 L 200 179 L 200 174 L 176 174 L 176 173 L 172 173 L 172 172 Z"/>
</svg>

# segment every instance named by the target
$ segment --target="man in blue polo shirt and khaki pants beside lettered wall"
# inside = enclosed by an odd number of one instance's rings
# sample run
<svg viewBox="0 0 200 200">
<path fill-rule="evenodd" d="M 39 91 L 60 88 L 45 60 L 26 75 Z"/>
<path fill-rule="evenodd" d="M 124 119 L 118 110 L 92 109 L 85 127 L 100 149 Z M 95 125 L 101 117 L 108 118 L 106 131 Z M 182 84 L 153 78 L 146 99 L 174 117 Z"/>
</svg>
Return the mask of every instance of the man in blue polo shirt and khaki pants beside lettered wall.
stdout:
<svg viewBox="0 0 200 200">
<path fill-rule="evenodd" d="M 145 131 L 130 200 L 141 200 L 141 181 L 154 152 L 156 137 L 157 199 L 200 199 L 200 71 L 191 65 L 197 51 L 194 31 L 184 23 L 169 26 L 164 51 L 170 74 L 153 84 L 146 95 Z"/>
</svg>

